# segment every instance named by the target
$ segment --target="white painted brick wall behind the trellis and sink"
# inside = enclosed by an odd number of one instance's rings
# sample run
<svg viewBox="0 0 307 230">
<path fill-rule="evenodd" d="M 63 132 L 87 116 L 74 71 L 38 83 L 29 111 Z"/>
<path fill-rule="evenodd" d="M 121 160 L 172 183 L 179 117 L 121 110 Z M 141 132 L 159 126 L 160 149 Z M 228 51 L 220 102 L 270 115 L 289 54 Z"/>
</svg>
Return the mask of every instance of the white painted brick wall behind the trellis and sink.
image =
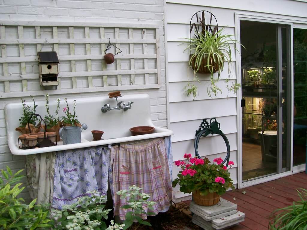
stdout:
<svg viewBox="0 0 307 230">
<path fill-rule="evenodd" d="M 151 118 L 153 123 L 166 127 L 165 92 L 165 46 L 163 23 L 163 0 L 0 0 L 0 20 L 10 21 L 62 21 L 62 22 L 99 22 L 99 23 L 144 23 L 159 25 L 161 53 L 161 88 L 150 90 L 122 91 L 122 94 L 148 93 L 151 98 Z M 9 51 L 8 51 L 9 52 Z M 8 53 L 9 55 L 9 53 Z M 14 66 L 12 68 L 15 68 Z M 30 67 L 29 67 L 30 68 Z M 100 67 L 101 68 L 101 67 Z M 14 70 L 14 69 L 13 69 Z M 16 72 L 19 71 L 16 66 Z M 12 87 L 12 86 L 11 86 Z M 20 87 L 20 86 L 16 86 Z M 34 86 L 33 86 L 34 87 Z M 37 86 L 39 87 L 39 86 Z M 11 89 L 14 91 L 14 88 Z M 51 95 L 51 98 L 78 98 L 105 93 L 84 93 L 71 95 Z M 29 98 L 25 98 L 29 100 Z M 37 97 L 43 100 L 43 97 Z M 51 100 L 52 100 L 51 99 Z M 14 171 L 25 167 L 25 157 L 10 153 L 6 140 L 4 106 L 18 102 L 19 98 L 0 99 L 0 169 L 8 165 Z M 28 191 L 23 193 L 29 198 Z"/>
</svg>

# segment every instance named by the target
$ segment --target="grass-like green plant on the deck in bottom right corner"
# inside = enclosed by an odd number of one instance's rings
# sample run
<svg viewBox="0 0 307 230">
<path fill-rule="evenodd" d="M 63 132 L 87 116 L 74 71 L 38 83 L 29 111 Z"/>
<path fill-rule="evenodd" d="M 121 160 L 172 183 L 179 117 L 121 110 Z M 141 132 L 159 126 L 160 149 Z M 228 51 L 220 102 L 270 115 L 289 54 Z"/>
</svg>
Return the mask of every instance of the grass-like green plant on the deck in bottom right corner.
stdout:
<svg viewBox="0 0 307 230">
<path fill-rule="evenodd" d="M 270 217 L 270 230 L 306 230 L 307 229 L 307 190 L 297 190 L 300 201 L 276 209 Z"/>
</svg>

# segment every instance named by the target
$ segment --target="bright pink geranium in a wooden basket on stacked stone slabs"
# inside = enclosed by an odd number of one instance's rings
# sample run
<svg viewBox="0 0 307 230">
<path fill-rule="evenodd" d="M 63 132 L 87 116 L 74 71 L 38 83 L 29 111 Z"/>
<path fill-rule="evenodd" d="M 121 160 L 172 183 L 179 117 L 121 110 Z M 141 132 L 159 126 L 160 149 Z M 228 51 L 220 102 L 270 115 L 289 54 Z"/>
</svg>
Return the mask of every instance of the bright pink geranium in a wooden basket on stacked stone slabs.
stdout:
<svg viewBox="0 0 307 230">
<path fill-rule="evenodd" d="M 192 158 L 191 154 L 185 154 L 185 161 L 175 161 L 175 165 L 181 168 L 172 185 L 180 185 L 183 193 L 192 193 L 194 202 L 202 206 L 216 205 L 229 188 L 235 189 L 227 167 L 222 164 L 223 159 L 216 158 L 210 164 L 208 158 Z M 230 168 L 234 163 L 229 161 Z"/>
</svg>

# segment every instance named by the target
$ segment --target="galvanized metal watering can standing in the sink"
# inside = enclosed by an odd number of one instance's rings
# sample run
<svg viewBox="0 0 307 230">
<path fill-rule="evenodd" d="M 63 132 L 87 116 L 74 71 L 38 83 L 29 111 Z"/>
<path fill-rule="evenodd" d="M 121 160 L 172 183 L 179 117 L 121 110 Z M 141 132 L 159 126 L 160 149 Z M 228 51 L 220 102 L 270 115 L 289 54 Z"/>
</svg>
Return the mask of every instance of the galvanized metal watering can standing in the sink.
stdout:
<svg viewBox="0 0 307 230">
<path fill-rule="evenodd" d="M 63 139 L 63 144 L 81 143 L 81 132 L 83 129 L 87 129 L 86 124 L 82 124 L 81 128 L 79 126 L 66 126 L 60 128 L 59 135 Z"/>
</svg>

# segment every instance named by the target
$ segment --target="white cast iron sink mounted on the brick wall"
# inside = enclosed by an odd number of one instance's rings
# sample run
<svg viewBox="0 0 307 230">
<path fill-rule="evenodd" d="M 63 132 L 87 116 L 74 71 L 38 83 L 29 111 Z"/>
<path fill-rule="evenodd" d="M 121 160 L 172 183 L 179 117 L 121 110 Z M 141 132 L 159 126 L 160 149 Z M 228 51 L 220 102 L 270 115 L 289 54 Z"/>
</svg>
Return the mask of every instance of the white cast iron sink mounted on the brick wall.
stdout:
<svg viewBox="0 0 307 230">
<path fill-rule="evenodd" d="M 134 104 L 132 104 L 131 109 L 127 111 L 111 110 L 107 113 L 102 113 L 101 107 L 104 104 L 109 103 L 111 107 L 115 107 L 116 100 L 108 97 L 76 98 L 76 115 L 81 123 L 86 123 L 88 126 L 87 130 L 83 130 L 81 133 L 81 143 L 63 145 L 63 142 L 60 141 L 57 146 L 26 150 L 18 148 L 18 136 L 20 133 L 15 131 L 15 128 L 20 125 L 19 118 L 22 114 L 22 104 L 21 102 L 7 104 L 5 106 L 5 117 L 10 151 L 14 155 L 29 155 L 173 135 L 173 131 L 153 125 L 150 118 L 150 98 L 148 94 L 130 94 L 124 95 L 118 99 L 120 101 L 125 101 L 126 104 L 128 101 L 132 101 Z M 46 115 L 45 101 L 38 101 L 36 103 L 38 105 L 36 113 L 44 117 Z M 55 111 L 55 100 L 50 99 L 49 103 L 50 111 Z M 26 105 L 31 105 L 33 107 L 33 102 L 27 101 Z M 64 116 L 63 108 L 66 106 L 64 106 L 63 98 L 60 105 L 59 116 Z M 68 105 L 72 112 L 73 99 L 68 99 Z M 153 126 L 155 132 L 152 134 L 131 136 L 129 129 L 135 126 Z M 102 138 L 104 140 L 92 141 L 93 136 L 91 130 L 103 131 L 104 134 Z"/>
</svg>

